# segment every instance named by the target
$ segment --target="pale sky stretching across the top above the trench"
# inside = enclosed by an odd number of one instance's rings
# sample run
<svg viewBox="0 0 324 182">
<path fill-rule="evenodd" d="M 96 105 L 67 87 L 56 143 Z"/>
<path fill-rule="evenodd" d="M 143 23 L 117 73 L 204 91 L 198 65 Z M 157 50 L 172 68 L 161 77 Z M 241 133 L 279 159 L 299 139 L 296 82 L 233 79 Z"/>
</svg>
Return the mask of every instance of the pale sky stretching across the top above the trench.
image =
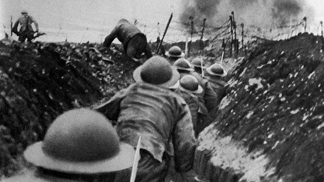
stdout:
<svg viewBox="0 0 324 182">
<path fill-rule="evenodd" d="M 241 6 L 248 5 L 247 2 L 251 6 Z M 187 21 L 188 17 L 183 15 L 190 16 L 192 11 L 203 11 L 200 16 L 217 12 L 207 21 L 217 26 L 227 20 L 231 11 L 235 11 L 238 24 L 249 22 L 262 26 L 262 21 L 269 22 L 264 20 L 268 20 L 271 6 L 277 2 L 297 2 L 303 10 L 299 16 L 308 16 L 308 21 L 314 26 L 324 21 L 324 0 L 0 0 L 0 23 L 8 31 L 11 16 L 14 23 L 20 12 L 27 10 L 37 20 L 39 31 L 56 31 L 57 34 L 72 38 L 74 34 L 80 34 L 76 31 L 97 31 L 96 36 L 107 34 L 121 18 L 130 22 L 136 19 L 139 25 L 145 26 L 145 30 L 141 29 L 143 31 L 154 28 L 163 32 L 171 13 L 173 23 L 176 23 L 181 22 L 181 17 Z M 3 35 L 4 31 L 1 31 L 0 36 Z M 80 36 L 77 38 L 81 39 Z"/>
</svg>

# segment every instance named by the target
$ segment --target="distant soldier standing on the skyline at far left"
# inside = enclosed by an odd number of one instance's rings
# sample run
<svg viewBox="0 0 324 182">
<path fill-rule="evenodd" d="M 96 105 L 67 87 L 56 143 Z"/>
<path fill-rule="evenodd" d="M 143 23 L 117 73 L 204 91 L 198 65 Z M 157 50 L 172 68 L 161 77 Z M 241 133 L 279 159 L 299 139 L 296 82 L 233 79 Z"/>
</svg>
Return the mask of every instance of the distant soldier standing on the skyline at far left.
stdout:
<svg viewBox="0 0 324 182">
<path fill-rule="evenodd" d="M 36 31 L 33 30 L 31 26 L 32 23 L 34 23 Z M 18 25 L 20 25 L 19 32 Z M 38 23 L 32 16 L 28 15 L 27 11 L 22 11 L 21 16 L 18 18 L 14 27 L 12 28 L 12 32 L 19 36 L 19 41 L 24 42 L 27 38 L 27 41 L 30 42 L 34 36 L 34 33 L 38 32 Z"/>
</svg>

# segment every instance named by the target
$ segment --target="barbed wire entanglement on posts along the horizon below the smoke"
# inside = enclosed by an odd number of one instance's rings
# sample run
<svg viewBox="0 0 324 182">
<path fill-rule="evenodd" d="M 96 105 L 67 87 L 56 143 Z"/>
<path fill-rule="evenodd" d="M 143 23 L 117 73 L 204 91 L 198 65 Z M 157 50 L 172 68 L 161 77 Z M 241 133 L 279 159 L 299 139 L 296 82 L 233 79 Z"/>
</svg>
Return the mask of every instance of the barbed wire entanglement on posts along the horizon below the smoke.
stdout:
<svg viewBox="0 0 324 182">
<path fill-rule="evenodd" d="M 202 21 L 202 20 L 201 20 Z M 229 19 L 224 21 L 220 26 L 213 26 L 205 24 L 197 20 L 188 20 L 187 22 L 179 22 L 177 20 L 172 20 L 167 36 L 164 42 L 175 43 L 179 41 L 189 41 L 190 43 L 197 40 L 208 40 L 211 42 L 220 42 L 222 46 L 218 49 L 225 51 L 229 50 L 229 57 L 238 57 L 239 50 L 245 53 L 247 49 L 247 43 L 260 39 L 260 40 L 280 40 L 287 39 L 292 36 L 296 36 L 298 33 L 306 32 L 307 30 L 307 18 L 300 21 L 290 21 L 287 24 L 280 25 L 268 25 L 265 27 L 259 27 L 255 25 L 246 25 L 244 23 L 237 23 L 234 20 L 234 12 L 231 12 Z M 160 30 L 165 27 L 166 24 L 157 23 L 158 29 L 151 28 L 150 31 L 145 31 L 146 35 L 150 37 L 148 40 L 154 42 L 158 36 L 161 35 Z M 153 25 L 148 25 L 138 21 L 137 26 L 143 30 L 145 27 L 153 27 Z M 155 25 L 156 27 L 156 25 Z M 310 29 L 310 28 L 309 28 Z M 317 32 L 319 29 L 322 33 L 322 22 L 317 26 Z M 212 48 L 213 49 L 213 48 Z M 215 48 L 214 48 L 215 49 Z"/>
</svg>

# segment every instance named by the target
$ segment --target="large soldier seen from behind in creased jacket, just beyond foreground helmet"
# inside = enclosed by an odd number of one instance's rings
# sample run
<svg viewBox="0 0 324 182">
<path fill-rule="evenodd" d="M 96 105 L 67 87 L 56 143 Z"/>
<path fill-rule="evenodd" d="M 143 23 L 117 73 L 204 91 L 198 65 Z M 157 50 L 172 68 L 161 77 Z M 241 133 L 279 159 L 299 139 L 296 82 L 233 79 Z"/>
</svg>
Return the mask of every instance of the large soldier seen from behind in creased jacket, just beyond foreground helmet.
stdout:
<svg viewBox="0 0 324 182">
<path fill-rule="evenodd" d="M 120 141 L 136 147 L 141 136 L 141 159 L 136 181 L 163 181 L 170 164 L 170 142 L 176 171 L 192 168 L 195 136 L 186 102 L 169 87 L 180 75 L 163 57 L 153 56 L 133 73 L 136 83 L 120 90 L 96 107 L 110 120 L 116 120 Z"/>
</svg>

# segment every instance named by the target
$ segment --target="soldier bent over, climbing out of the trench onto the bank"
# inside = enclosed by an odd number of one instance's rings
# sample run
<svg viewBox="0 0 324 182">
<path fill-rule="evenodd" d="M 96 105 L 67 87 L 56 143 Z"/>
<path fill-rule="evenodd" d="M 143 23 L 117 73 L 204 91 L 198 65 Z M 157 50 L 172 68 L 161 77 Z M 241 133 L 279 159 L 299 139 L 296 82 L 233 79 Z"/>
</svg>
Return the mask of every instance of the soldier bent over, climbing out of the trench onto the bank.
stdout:
<svg viewBox="0 0 324 182">
<path fill-rule="evenodd" d="M 146 58 L 152 57 L 146 36 L 126 19 L 118 21 L 116 27 L 106 36 L 102 46 L 109 48 L 115 38 L 123 43 L 125 53 L 131 59 L 140 59 L 142 54 L 145 54 Z"/>
</svg>

